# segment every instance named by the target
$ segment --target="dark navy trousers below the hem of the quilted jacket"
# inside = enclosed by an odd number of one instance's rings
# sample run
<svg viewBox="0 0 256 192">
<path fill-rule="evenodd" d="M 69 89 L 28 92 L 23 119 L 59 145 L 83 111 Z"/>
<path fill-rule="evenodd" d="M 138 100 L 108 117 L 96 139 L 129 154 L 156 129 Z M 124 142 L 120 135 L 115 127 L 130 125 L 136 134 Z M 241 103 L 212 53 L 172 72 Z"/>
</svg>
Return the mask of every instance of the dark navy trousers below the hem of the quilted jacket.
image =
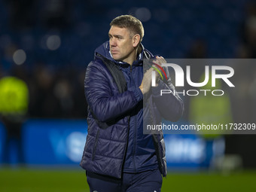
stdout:
<svg viewBox="0 0 256 192">
<path fill-rule="evenodd" d="M 87 172 L 90 192 L 160 192 L 162 182 L 159 169 L 139 173 L 123 172 L 120 179 Z"/>
</svg>

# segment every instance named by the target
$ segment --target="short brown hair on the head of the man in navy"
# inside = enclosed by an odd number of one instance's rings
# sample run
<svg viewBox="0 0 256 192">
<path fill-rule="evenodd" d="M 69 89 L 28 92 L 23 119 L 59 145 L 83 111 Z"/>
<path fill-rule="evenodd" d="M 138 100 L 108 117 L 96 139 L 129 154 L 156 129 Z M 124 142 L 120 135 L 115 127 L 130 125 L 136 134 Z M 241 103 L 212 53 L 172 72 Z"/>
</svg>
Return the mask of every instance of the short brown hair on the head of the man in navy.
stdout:
<svg viewBox="0 0 256 192">
<path fill-rule="evenodd" d="M 115 17 L 114 20 L 111 21 L 110 26 L 129 29 L 132 35 L 139 34 L 141 37 L 140 42 L 142 42 L 144 28 L 142 26 L 142 22 L 136 17 L 133 17 L 132 15 L 121 15 L 119 17 Z"/>
</svg>

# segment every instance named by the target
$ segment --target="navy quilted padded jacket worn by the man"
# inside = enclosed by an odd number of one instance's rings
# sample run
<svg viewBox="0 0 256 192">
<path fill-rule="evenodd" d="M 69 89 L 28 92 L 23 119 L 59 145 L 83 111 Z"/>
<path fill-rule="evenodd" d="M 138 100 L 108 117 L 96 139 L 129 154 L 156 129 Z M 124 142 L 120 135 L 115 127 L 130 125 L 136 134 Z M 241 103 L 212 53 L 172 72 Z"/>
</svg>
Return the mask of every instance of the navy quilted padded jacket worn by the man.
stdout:
<svg viewBox="0 0 256 192">
<path fill-rule="evenodd" d="M 81 160 L 81 166 L 87 171 L 120 178 L 123 171 L 140 172 L 158 167 L 166 176 L 163 133 L 143 134 L 143 113 L 148 114 L 151 124 L 159 123 L 162 117 L 176 121 L 183 112 L 183 102 L 178 95 L 159 95 L 157 89 L 174 89 L 166 70 L 168 81 L 160 81 L 158 87 L 152 87 L 148 105 L 143 109 L 139 85 L 145 57 L 153 55 L 143 48 L 132 66 L 117 62 L 109 53 L 107 41 L 96 49 L 94 60 L 87 66 L 84 90 L 88 103 L 88 135 Z M 120 68 L 126 80 L 126 91 L 119 92 L 102 59 Z"/>
</svg>

